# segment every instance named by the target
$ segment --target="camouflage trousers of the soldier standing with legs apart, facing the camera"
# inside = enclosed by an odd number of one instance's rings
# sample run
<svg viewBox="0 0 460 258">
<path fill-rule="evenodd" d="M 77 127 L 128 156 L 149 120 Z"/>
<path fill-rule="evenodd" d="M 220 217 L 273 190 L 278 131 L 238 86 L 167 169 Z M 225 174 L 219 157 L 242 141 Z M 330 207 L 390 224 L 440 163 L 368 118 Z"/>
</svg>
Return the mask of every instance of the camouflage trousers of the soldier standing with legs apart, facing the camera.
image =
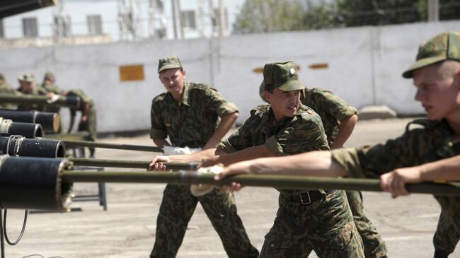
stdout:
<svg viewBox="0 0 460 258">
<path fill-rule="evenodd" d="M 219 234 L 228 257 L 258 257 L 259 252 L 251 245 L 243 222 L 236 213 L 234 194 L 214 189 L 205 196 L 194 197 L 190 186 L 174 184 L 167 184 L 163 192 L 150 257 L 176 257 L 198 201 Z"/>
</svg>

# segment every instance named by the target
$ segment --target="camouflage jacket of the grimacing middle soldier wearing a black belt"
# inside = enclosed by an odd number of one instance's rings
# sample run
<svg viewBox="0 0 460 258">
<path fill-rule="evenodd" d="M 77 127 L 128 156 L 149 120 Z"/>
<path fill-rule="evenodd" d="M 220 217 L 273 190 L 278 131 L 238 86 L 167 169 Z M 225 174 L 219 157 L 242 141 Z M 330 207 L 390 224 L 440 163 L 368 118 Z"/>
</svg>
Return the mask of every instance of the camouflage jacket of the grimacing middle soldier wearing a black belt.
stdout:
<svg viewBox="0 0 460 258">
<path fill-rule="evenodd" d="M 276 124 L 270 105 L 259 105 L 251 110 L 251 117 L 228 139 L 219 143 L 226 153 L 265 144 L 276 156 L 306 151 L 328 151 L 329 146 L 321 118 L 311 108 L 301 105 L 297 114 Z M 282 190 L 283 194 L 305 192 Z"/>
</svg>

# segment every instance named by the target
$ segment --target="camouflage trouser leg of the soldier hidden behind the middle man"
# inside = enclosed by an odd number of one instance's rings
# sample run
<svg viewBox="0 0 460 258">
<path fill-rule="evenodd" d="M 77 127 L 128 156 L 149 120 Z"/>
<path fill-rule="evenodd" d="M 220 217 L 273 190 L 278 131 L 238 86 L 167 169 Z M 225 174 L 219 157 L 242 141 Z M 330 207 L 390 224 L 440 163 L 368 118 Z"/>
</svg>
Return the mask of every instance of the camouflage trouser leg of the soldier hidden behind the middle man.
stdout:
<svg viewBox="0 0 460 258">
<path fill-rule="evenodd" d="M 356 228 L 360 233 L 364 245 L 364 256 L 366 258 L 386 257 L 386 245 L 375 226 L 369 221 L 362 206 L 362 194 L 360 191 L 346 191 L 348 205 L 353 215 Z"/>
</svg>

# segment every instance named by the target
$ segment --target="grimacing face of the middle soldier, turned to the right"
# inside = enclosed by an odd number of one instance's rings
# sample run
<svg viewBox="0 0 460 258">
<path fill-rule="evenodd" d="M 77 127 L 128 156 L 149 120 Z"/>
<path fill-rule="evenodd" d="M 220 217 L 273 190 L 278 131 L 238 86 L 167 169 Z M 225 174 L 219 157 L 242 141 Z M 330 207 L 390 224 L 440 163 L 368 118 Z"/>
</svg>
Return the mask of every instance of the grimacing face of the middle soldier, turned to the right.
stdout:
<svg viewBox="0 0 460 258">
<path fill-rule="evenodd" d="M 285 117 L 294 117 L 299 109 L 300 90 L 280 90 L 275 88 L 273 93 L 265 91 L 265 98 L 272 106 L 277 122 Z"/>
</svg>

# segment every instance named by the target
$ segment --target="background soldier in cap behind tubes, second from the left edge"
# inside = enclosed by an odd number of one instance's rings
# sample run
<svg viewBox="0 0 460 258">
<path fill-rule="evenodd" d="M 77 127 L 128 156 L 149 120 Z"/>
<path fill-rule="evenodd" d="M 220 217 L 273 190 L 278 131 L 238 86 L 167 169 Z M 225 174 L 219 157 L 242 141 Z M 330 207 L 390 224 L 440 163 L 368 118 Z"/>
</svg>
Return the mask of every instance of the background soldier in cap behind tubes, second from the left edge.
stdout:
<svg viewBox="0 0 460 258">
<path fill-rule="evenodd" d="M 19 81 L 19 88 L 17 89 L 17 91 L 20 94 L 48 95 L 47 91 L 44 88 L 35 85 L 35 78 L 33 74 L 20 74 L 18 76 L 18 81 Z M 52 95 L 48 95 L 48 97 L 51 98 Z M 22 110 L 22 111 L 37 110 L 37 111 L 42 111 L 42 112 L 47 111 L 45 105 L 26 104 L 26 103 L 18 104 L 18 110 Z"/>
</svg>

